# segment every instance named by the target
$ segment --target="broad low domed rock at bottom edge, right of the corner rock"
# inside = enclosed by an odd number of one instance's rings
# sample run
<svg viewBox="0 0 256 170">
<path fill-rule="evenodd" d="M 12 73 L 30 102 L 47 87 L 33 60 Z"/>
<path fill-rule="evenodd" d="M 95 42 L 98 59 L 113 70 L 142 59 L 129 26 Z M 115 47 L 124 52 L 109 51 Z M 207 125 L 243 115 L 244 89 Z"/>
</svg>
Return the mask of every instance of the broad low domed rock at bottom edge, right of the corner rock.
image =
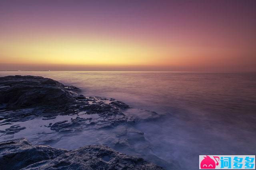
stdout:
<svg viewBox="0 0 256 170">
<path fill-rule="evenodd" d="M 66 152 L 54 159 L 37 162 L 24 170 L 95 170 L 95 169 L 141 169 L 162 170 L 142 158 L 119 153 L 107 146 L 89 145 Z"/>
</svg>

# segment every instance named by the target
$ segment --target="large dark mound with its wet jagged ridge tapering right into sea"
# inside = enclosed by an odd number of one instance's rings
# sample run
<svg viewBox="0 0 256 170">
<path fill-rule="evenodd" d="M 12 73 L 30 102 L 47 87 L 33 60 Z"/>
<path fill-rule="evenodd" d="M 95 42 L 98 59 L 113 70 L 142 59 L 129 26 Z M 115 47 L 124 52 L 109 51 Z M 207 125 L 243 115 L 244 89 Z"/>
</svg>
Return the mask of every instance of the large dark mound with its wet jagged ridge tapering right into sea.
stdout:
<svg viewBox="0 0 256 170">
<path fill-rule="evenodd" d="M 129 108 L 125 103 L 114 99 L 107 104 L 109 100 L 106 98 L 85 97 L 77 94 L 78 90 L 77 87 L 65 86 L 44 77 L 0 77 L 0 120 L 3 120 L 0 123 L 28 121 L 38 116 L 44 116 L 43 120 L 49 120 L 54 119 L 56 115 L 74 115 L 80 111 L 100 114 L 103 117 L 124 117 L 120 109 Z M 52 115 L 47 117 L 49 113 Z"/>
</svg>

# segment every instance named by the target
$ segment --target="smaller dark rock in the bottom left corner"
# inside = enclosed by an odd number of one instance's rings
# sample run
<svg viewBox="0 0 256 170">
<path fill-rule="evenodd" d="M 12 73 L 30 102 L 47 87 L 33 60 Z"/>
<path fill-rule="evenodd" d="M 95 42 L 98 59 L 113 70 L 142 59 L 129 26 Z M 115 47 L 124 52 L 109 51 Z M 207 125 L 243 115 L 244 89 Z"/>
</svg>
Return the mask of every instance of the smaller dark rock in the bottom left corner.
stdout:
<svg viewBox="0 0 256 170">
<path fill-rule="evenodd" d="M 0 169 L 17 170 L 35 162 L 56 158 L 68 152 L 50 146 L 33 146 L 25 138 L 0 142 Z"/>
</svg>

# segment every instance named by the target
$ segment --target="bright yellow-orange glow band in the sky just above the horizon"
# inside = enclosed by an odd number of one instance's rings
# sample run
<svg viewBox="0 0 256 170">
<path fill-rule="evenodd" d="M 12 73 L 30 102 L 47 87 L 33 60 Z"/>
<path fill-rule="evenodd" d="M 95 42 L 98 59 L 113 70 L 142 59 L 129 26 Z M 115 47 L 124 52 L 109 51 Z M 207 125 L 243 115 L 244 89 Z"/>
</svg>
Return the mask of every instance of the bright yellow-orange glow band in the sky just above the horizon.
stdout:
<svg viewBox="0 0 256 170">
<path fill-rule="evenodd" d="M 177 46 L 113 38 L 20 38 L 0 40 L 1 63 L 91 66 L 191 66 L 239 59 L 238 49 Z M 208 57 L 206 57 L 208 56 Z"/>
</svg>

